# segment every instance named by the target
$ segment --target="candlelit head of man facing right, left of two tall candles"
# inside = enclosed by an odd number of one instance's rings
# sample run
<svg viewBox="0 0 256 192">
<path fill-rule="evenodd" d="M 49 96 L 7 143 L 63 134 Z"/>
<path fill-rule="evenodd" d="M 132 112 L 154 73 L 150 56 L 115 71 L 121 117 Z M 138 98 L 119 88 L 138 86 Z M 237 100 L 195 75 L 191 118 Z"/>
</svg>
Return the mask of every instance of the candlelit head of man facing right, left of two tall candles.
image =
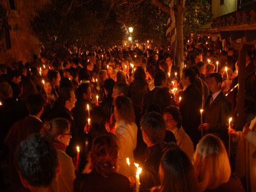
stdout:
<svg viewBox="0 0 256 192">
<path fill-rule="evenodd" d="M 69 111 L 75 107 L 76 95 L 74 90 L 69 87 L 64 87 L 60 90 L 58 102 L 60 106 L 67 108 Z"/>
</svg>

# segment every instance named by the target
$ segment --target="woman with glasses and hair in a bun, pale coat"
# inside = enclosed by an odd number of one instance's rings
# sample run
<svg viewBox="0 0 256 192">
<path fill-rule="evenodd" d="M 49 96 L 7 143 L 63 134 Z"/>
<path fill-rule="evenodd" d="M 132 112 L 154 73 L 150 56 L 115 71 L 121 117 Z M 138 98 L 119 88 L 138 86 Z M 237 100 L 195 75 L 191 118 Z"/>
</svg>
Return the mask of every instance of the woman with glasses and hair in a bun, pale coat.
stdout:
<svg viewBox="0 0 256 192">
<path fill-rule="evenodd" d="M 60 174 L 58 182 L 60 191 L 73 191 L 73 182 L 76 178 L 75 166 L 72 158 L 65 153 L 65 149 L 69 145 L 72 138 L 70 131 L 70 123 L 64 118 L 55 118 L 43 125 L 44 133 L 51 137 L 53 144 L 57 150 L 60 163 Z M 74 149 L 75 150 L 75 149 Z"/>
</svg>

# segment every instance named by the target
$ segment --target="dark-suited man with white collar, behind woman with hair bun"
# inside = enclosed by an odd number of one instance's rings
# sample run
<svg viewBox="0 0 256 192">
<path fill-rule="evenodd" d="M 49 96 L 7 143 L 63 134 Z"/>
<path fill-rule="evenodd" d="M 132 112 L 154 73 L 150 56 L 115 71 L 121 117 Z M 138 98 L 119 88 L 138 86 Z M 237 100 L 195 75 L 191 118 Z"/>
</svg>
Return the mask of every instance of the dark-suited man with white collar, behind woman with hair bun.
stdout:
<svg viewBox="0 0 256 192">
<path fill-rule="evenodd" d="M 40 116 L 44 111 L 44 99 L 40 94 L 33 94 L 28 97 L 27 108 L 30 115 L 19 120 L 11 126 L 5 138 L 5 144 L 9 148 L 9 168 L 11 176 L 11 191 L 23 191 L 24 187 L 20 182 L 15 166 L 15 151 L 21 141 L 27 139 L 33 133 L 39 133 L 43 127 Z"/>
</svg>

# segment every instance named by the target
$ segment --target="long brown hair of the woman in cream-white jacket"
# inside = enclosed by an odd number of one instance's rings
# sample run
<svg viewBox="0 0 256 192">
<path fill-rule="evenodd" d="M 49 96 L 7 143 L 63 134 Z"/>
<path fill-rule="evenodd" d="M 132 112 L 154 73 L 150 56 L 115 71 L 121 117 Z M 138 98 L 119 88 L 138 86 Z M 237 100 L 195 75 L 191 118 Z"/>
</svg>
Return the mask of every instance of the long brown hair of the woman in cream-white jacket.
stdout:
<svg viewBox="0 0 256 192">
<path fill-rule="evenodd" d="M 133 103 L 131 103 L 130 98 L 118 96 L 114 99 L 114 116 L 117 122 L 120 122 L 121 120 L 128 124 L 134 122 L 135 115 Z"/>
</svg>

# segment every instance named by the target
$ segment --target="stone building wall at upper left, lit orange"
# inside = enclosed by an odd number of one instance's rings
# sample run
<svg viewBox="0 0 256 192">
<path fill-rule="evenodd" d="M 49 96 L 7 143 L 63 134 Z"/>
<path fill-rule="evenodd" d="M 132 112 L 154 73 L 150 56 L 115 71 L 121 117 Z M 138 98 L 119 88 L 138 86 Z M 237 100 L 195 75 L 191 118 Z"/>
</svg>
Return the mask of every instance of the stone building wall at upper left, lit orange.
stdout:
<svg viewBox="0 0 256 192">
<path fill-rule="evenodd" d="M 1 3 L 7 11 L 9 25 L 18 30 L 6 31 L 3 43 L 5 50 L 0 52 L 0 64 L 11 62 L 32 61 L 33 55 L 40 54 L 39 40 L 31 33 L 30 20 L 35 11 L 45 5 L 47 0 L 2 0 Z"/>
</svg>

